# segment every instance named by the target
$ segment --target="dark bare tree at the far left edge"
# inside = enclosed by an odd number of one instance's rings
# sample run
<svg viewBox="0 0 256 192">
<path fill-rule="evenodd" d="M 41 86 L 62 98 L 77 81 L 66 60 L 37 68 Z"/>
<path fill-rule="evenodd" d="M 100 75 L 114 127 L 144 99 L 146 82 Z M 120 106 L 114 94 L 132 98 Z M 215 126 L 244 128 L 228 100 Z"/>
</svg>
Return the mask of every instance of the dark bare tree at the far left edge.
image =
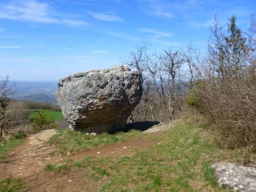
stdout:
<svg viewBox="0 0 256 192">
<path fill-rule="evenodd" d="M 8 124 L 11 121 L 11 119 L 6 119 L 7 106 L 9 105 L 7 98 L 15 93 L 13 89 L 14 85 L 15 83 L 10 84 L 9 76 L 6 76 L 5 79 L 2 79 L 0 82 L 0 137 L 6 136 L 7 129 L 9 128 Z"/>
</svg>

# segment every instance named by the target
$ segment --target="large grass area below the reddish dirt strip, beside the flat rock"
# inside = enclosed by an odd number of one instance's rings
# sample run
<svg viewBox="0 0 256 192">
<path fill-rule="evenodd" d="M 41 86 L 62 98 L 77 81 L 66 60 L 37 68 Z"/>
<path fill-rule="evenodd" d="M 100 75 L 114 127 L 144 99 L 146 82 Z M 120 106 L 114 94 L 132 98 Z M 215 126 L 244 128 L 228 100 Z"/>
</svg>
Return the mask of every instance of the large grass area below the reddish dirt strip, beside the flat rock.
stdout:
<svg viewBox="0 0 256 192">
<path fill-rule="evenodd" d="M 85 158 L 80 169 L 100 167 L 109 173 L 101 191 L 200 191 L 205 186 L 222 190 L 206 168 L 213 162 L 209 162 L 209 156 L 216 153 L 216 148 L 200 137 L 196 126 L 177 124 L 160 139 L 162 144 L 134 156 L 105 160 L 94 157 L 93 161 Z M 98 181 L 102 178 L 100 174 L 97 177 Z"/>
</svg>

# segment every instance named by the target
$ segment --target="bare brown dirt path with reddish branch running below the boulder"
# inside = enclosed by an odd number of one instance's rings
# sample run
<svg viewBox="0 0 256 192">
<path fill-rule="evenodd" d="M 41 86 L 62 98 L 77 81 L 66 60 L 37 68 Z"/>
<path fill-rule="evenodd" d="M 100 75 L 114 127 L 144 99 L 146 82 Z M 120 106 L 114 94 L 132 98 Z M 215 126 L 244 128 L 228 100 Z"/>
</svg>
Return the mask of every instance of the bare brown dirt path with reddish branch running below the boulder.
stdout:
<svg viewBox="0 0 256 192">
<path fill-rule="evenodd" d="M 157 126 L 157 130 L 166 130 L 166 126 Z M 155 131 L 148 131 L 155 132 Z M 77 183 L 81 178 L 76 173 L 60 176 L 44 171 L 47 164 L 60 164 L 67 158 L 79 161 L 86 156 L 125 156 L 134 153 L 134 149 L 141 151 L 157 144 L 156 140 L 146 140 L 143 137 L 127 139 L 122 143 L 109 144 L 108 146 L 94 147 L 75 155 L 60 156 L 50 155 L 56 148 L 50 147 L 45 141 L 56 134 L 55 130 L 45 130 L 30 135 L 24 143 L 11 151 L 0 162 L 0 180 L 8 177 L 20 178 L 28 191 L 81 191 Z M 58 188 L 61 185 L 61 188 Z M 93 183 L 91 186 L 100 185 Z M 78 187 L 78 188 L 77 188 Z M 85 187 L 86 188 L 86 187 Z M 86 191 L 94 191 L 86 188 Z"/>
</svg>

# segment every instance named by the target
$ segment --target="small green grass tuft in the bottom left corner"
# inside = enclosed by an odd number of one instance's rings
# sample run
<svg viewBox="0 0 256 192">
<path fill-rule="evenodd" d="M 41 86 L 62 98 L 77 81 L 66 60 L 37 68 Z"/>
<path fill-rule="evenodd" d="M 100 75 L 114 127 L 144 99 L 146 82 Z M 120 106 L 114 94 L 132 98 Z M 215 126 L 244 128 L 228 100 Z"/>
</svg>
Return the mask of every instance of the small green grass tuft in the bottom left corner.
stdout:
<svg viewBox="0 0 256 192">
<path fill-rule="evenodd" d="M 1 192 L 22 192 L 25 191 L 24 184 L 16 178 L 7 178 L 0 181 L 0 191 Z"/>
</svg>

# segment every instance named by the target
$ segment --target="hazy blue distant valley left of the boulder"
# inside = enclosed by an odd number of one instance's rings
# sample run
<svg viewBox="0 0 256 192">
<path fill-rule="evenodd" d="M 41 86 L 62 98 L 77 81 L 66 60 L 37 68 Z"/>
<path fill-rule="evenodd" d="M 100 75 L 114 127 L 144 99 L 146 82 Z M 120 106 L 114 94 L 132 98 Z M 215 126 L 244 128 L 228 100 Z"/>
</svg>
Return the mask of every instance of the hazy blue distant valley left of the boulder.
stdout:
<svg viewBox="0 0 256 192">
<path fill-rule="evenodd" d="M 14 99 L 57 104 L 57 82 L 16 81 Z"/>
</svg>

